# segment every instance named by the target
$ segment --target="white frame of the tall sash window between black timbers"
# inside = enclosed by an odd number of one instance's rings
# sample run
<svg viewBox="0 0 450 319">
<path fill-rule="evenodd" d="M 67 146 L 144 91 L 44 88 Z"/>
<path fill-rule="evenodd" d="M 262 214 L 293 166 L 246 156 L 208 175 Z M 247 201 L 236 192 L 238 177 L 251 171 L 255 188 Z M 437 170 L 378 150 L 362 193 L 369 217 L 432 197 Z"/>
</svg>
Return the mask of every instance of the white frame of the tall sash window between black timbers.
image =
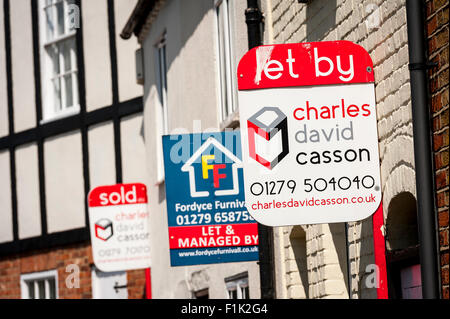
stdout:
<svg viewBox="0 0 450 319">
<path fill-rule="evenodd" d="M 73 4 L 70 0 L 39 0 L 39 52 L 41 65 L 41 90 L 42 90 L 42 119 L 40 124 L 45 124 L 54 120 L 78 114 L 80 112 L 80 99 L 78 87 L 78 57 L 77 57 L 77 30 L 69 29 L 69 5 Z M 70 2 L 69 2 L 70 1 Z M 58 14 L 57 5 L 62 3 L 64 30 L 62 34 L 58 34 Z M 52 10 L 52 22 L 54 23 L 53 35 L 51 39 L 47 39 L 47 9 Z M 70 69 L 66 70 L 65 53 L 62 46 L 67 46 L 69 50 Z M 58 56 L 51 57 L 51 51 Z M 55 60 L 58 64 L 58 72 L 54 70 Z M 66 78 L 71 82 L 72 105 L 67 103 Z M 54 92 L 54 81 L 58 81 L 58 93 Z M 67 80 L 68 81 L 68 80 Z M 57 109 L 56 98 L 59 98 L 59 106 Z"/>
</svg>

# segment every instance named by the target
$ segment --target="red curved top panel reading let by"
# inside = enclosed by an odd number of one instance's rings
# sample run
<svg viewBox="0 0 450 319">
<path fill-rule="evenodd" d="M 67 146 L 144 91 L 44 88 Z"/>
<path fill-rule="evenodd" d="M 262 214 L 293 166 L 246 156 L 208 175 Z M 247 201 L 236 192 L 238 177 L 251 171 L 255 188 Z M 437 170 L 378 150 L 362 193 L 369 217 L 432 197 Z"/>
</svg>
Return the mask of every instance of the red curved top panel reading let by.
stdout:
<svg viewBox="0 0 450 319">
<path fill-rule="evenodd" d="M 372 59 L 350 41 L 259 46 L 237 74 L 239 90 L 374 82 Z"/>
</svg>

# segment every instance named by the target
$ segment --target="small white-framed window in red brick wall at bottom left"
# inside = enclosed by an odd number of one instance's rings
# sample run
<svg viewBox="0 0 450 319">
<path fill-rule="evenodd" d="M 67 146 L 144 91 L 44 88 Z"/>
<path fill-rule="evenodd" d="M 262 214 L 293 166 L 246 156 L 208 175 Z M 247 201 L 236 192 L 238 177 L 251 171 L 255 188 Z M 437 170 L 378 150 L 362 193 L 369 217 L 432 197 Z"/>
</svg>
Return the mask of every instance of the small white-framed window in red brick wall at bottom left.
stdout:
<svg viewBox="0 0 450 319">
<path fill-rule="evenodd" d="M 57 299 L 58 273 L 56 270 L 20 276 L 22 299 Z"/>
</svg>

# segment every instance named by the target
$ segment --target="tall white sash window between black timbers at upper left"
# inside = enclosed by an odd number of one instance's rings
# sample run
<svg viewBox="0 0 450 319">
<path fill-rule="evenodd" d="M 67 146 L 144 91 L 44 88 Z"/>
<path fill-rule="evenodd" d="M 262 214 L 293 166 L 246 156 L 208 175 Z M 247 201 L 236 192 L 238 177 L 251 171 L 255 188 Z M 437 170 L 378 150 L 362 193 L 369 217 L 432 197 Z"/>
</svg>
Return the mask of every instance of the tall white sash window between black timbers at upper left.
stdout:
<svg viewBox="0 0 450 319">
<path fill-rule="evenodd" d="M 78 113 L 74 0 L 40 0 L 43 121 Z"/>
</svg>

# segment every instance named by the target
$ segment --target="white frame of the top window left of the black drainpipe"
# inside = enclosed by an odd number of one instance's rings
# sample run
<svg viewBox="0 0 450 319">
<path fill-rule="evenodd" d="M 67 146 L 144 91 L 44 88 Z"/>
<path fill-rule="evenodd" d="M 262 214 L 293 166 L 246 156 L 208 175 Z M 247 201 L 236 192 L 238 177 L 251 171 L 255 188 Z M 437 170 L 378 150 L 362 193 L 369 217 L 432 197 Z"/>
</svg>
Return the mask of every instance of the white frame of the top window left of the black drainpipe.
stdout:
<svg viewBox="0 0 450 319">
<path fill-rule="evenodd" d="M 221 16 L 222 9 L 224 17 L 224 25 L 222 25 L 223 41 L 221 39 Z M 233 24 L 230 16 L 229 0 L 214 0 L 214 28 L 216 40 L 216 57 L 217 57 L 217 94 L 218 94 L 218 113 L 219 123 L 222 126 L 228 122 L 232 122 L 238 111 L 237 102 L 237 83 L 235 78 L 235 61 L 234 57 L 234 37 Z M 221 43 L 223 45 L 221 46 Z M 224 74 L 225 73 L 225 74 Z M 225 83 L 224 83 L 225 82 Z"/>
</svg>

